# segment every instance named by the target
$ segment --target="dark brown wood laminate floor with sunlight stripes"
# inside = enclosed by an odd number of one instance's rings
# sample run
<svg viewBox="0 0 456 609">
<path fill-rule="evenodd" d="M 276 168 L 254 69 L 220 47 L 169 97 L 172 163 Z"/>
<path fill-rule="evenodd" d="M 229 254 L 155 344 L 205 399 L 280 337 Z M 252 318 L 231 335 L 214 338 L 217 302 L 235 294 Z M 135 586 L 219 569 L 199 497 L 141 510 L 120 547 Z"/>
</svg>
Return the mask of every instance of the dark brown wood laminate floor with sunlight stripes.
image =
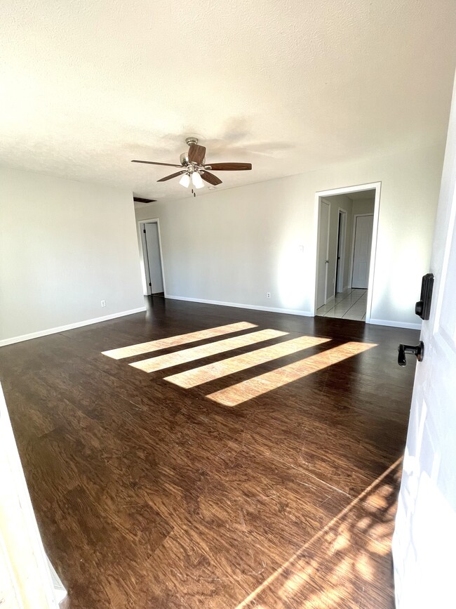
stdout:
<svg viewBox="0 0 456 609">
<path fill-rule="evenodd" d="M 393 608 L 417 336 L 158 298 L 1 348 L 65 606 Z"/>
</svg>

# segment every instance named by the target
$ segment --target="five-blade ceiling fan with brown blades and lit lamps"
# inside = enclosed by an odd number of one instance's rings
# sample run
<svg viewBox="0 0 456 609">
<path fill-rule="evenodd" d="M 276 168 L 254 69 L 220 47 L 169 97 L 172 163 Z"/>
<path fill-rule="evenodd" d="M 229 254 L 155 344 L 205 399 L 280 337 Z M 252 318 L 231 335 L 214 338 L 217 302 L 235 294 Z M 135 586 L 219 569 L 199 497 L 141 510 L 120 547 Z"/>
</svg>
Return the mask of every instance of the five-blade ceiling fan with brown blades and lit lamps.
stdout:
<svg viewBox="0 0 456 609">
<path fill-rule="evenodd" d="M 245 171 L 252 169 L 251 163 L 210 163 L 206 164 L 206 148 L 198 144 L 197 138 L 187 138 L 185 140 L 189 145 L 188 152 L 182 152 L 180 155 L 180 165 L 173 163 L 156 163 L 154 161 L 138 161 L 133 160 L 132 163 L 146 163 L 149 165 L 166 165 L 168 167 L 180 167 L 180 171 L 171 173 L 170 176 L 165 176 L 157 182 L 166 182 L 173 178 L 180 177 L 179 183 L 188 188 L 192 184 L 192 192 L 195 195 L 193 188 L 203 188 L 204 182 L 208 182 L 213 186 L 222 183 L 220 178 L 217 178 L 213 173 L 208 171 Z M 204 181 L 204 182 L 203 182 Z"/>
</svg>

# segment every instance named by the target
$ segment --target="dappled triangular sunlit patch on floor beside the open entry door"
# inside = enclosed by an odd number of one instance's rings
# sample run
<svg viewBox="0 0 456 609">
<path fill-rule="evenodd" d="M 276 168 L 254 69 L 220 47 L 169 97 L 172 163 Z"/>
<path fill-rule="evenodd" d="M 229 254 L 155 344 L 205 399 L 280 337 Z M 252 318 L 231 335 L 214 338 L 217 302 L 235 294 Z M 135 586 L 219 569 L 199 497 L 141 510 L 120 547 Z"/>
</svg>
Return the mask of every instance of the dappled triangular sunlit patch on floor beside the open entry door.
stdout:
<svg viewBox="0 0 456 609">
<path fill-rule="evenodd" d="M 237 609 L 340 609 L 347 599 L 356 602 L 347 606 L 393 607 L 392 591 L 384 582 L 391 578 L 401 461 L 382 473 Z M 377 501 L 379 497 L 386 499 L 385 506 Z"/>
</svg>

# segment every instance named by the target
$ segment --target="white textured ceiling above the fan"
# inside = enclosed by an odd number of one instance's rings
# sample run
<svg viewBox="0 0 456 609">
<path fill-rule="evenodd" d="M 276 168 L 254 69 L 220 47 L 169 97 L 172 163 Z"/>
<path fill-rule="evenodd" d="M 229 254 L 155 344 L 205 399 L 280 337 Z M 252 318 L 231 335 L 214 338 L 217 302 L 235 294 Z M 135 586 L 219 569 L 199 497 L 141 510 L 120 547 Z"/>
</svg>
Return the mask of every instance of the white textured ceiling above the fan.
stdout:
<svg viewBox="0 0 456 609">
<path fill-rule="evenodd" d="M 454 0 L 3 0 L 0 164 L 187 196 L 198 133 L 230 188 L 441 142 Z M 170 171 L 167 171 L 167 170 Z"/>
</svg>

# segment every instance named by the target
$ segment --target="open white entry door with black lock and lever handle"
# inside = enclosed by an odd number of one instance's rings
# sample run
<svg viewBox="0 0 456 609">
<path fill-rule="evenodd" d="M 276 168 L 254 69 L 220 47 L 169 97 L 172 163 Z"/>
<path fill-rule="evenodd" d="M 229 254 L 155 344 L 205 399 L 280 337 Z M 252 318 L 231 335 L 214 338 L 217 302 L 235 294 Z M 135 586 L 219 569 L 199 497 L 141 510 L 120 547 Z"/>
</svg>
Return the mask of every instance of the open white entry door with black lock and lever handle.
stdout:
<svg viewBox="0 0 456 609">
<path fill-rule="evenodd" d="M 393 538 L 397 609 L 456 607 L 456 107 L 453 96 L 431 273 Z M 408 356 L 411 357 L 411 356 Z"/>
</svg>

